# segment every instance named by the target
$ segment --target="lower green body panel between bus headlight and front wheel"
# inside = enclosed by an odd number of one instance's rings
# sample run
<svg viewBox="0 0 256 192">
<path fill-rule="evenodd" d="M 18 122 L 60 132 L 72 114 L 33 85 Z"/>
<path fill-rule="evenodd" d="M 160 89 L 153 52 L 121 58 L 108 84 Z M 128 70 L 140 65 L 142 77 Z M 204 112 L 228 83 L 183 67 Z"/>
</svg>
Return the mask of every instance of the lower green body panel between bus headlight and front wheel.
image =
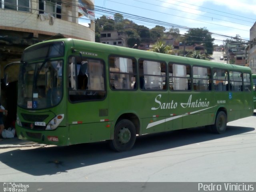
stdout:
<svg viewBox="0 0 256 192">
<path fill-rule="evenodd" d="M 70 125 L 70 145 L 109 140 L 111 132 L 111 128 L 109 125 L 110 122 Z"/>
</svg>

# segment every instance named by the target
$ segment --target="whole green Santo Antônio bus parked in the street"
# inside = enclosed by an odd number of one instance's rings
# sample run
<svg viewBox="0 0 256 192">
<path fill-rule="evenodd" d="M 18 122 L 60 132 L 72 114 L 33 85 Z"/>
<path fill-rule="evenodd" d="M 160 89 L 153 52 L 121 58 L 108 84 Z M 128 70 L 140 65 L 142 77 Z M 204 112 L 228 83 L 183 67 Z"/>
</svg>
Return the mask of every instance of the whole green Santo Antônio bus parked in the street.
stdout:
<svg viewBox="0 0 256 192">
<path fill-rule="evenodd" d="M 252 116 L 252 74 L 228 65 L 76 39 L 24 50 L 18 138 L 67 146 L 108 140 L 130 150 L 136 136 Z"/>
</svg>

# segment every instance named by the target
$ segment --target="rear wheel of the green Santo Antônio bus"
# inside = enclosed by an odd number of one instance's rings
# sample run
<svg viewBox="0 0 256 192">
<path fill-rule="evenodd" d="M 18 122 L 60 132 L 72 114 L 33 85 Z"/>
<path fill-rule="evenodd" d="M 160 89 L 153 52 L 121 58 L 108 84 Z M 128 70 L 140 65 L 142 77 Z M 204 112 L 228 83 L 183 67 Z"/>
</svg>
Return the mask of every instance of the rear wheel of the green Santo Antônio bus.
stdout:
<svg viewBox="0 0 256 192">
<path fill-rule="evenodd" d="M 227 115 L 224 111 L 218 112 L 215 123 L 211 126 L 213 133 L 222 134 L 227 128 Z"/>
</svg>

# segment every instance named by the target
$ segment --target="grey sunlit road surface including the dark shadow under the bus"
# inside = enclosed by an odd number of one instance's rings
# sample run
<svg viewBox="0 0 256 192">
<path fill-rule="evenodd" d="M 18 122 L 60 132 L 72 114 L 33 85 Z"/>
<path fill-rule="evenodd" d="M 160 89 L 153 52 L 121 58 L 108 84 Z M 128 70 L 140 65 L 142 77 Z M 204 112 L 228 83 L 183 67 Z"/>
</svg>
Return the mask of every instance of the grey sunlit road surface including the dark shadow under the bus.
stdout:
<svg viewBox="0 0 256 192">
<path fill-rule="evenodd" d="M 256 182 L 256 116 L 224 134 L 192 128 L 137 138 L 128 152 L 106 142 L 0 150 L 3 182 Z"/>
</svg>

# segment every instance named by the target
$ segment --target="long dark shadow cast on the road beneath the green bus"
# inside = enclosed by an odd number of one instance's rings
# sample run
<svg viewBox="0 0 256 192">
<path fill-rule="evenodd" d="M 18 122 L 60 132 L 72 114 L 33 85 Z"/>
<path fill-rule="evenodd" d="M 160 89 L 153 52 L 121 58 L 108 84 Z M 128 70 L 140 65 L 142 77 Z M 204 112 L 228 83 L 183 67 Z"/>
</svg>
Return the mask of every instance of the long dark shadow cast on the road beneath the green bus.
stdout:
<svg viewBox="0 0 256 192">
<path fill-rule="evenodd" d="M 53 175 L 68 170 L 120 160 L 132 156 L 172 150 L 180 146 L 244 134 L 255 130 L 250 127 L 227 126 L 224 134 L 211 134 L 204 127 L 176 130 L 139 136 L 132 150 L 114 152 L 108 142 L 17 149 L 0 154 L 7 166 L 33 176 Z"/>
</svg>

